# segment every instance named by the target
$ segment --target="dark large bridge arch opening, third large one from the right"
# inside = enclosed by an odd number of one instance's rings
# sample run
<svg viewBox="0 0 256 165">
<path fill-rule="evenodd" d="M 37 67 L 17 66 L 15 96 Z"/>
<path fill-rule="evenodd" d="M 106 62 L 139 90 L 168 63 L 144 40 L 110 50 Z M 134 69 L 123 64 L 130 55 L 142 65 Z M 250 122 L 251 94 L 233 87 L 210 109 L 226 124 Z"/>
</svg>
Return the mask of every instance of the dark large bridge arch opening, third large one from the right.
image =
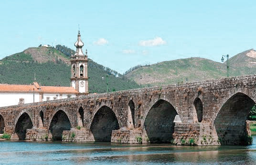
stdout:
<svg viewBox="0 0 256 165">
<path fill-rule="evenodd" d="M 105 105 L 95 113 L 90 126 L 95 141 L 110 141 L 112 130 L 119 128 L 116 114 Z"/>
</svg>

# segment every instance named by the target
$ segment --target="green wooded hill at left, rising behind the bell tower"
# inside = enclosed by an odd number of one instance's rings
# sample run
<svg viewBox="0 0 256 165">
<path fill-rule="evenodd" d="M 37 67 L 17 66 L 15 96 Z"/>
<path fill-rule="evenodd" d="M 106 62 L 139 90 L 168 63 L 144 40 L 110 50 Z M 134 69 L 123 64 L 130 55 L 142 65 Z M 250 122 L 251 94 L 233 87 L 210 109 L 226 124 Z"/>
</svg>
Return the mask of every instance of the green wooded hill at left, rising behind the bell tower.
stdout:
<svg viewBox="0 0 256 165">
<path fill-rule="evenodd" d="M 53 47 L 28 48 L 23 52 L 7 56 L 0 60 L 0 83 L 30 84 L 36 72 L 37 82 L 42 85 L 70 86 L 69 56 Z M 109 91 L 139 88 L 134 81 L 128 80 L 116 71 L 96 62 L 88 62 L 89 92 L 104 93 Z M 117 77 L 119 75 L 119 77 Z"/>
</svg>

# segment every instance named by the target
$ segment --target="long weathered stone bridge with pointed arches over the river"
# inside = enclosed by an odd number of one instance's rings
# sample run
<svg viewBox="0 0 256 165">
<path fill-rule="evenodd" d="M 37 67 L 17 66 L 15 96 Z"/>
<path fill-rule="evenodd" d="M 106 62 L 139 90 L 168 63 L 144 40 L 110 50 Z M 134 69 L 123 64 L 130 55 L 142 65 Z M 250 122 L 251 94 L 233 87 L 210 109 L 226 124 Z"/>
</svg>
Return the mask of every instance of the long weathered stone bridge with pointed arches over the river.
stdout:
<svg viewBox="0 0 256 165">
<path fill-rule="evenodd" d="M 0 133 L 34 141 L 249 144 L 255 101 L 256 75 L 90 94 L 1 107 Z"/>
</svg>

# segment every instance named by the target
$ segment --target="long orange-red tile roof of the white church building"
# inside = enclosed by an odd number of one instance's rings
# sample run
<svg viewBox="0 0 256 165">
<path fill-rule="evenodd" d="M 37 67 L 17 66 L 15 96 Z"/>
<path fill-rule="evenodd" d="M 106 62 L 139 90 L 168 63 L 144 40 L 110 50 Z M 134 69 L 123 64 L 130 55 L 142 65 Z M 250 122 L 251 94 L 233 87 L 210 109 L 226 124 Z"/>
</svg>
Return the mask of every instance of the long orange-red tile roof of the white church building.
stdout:
<svg viewBox="0 0 256 165">
<path fill-rule="evenodd" d="M 73 87 L 67 86 L 40 86 L 37 82 L 31 85 L 0 84 L 0 93 L 78 93 Z"/>
</svg>

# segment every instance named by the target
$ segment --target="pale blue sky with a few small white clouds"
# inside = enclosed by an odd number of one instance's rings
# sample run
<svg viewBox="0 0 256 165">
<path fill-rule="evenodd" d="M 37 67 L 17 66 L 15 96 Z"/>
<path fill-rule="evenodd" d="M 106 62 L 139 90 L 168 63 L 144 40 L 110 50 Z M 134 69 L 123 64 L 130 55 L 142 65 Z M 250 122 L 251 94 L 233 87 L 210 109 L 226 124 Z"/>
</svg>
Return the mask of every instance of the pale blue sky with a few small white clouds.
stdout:
<svg viewBox="0 0 256 165">
<path fill-rule="evenodd" d="M 1 0 L 0 59 L 40 44 L 75 50 L 119 73 L 138 64 L 256 48 L 255 0 Z"/>
</svg>

